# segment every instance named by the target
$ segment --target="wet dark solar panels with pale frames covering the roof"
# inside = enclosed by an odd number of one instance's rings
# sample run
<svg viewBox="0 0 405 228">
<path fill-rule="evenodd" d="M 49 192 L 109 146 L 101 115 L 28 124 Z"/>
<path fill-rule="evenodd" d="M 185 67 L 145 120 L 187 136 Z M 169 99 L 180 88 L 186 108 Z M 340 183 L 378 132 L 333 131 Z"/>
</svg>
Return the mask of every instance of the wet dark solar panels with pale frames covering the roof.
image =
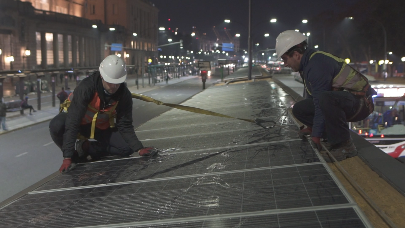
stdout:
<svg viewBox="0 0 405 228">
<path fill-rule="evenodd" d="M 0 209 L 0 228 L 369 227 L 291 103 L 271 82 L 212 86 L 183 105 L 279 126 L 170 110 L 137 129 L 158 157 L 79 164 Z"/>
</svg>

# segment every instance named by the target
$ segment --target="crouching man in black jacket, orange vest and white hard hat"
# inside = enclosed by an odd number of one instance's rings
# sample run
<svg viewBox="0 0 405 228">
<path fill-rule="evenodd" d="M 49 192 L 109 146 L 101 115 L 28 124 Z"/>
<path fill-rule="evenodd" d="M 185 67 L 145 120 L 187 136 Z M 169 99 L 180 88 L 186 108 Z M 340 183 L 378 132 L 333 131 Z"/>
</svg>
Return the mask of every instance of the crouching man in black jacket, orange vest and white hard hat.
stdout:
<svg viewBox="0 0 405 228">
<path fill-rule="evenodd" d="M 134 152 L 141 156 L 158 153 L 154 147 L 144 148 L 135 135 L 131 92 L 124 85 L 124 61 L 116 55 L 107 56 L 99 70 L 77 85 L 49 124 L 52 140 L 63 152 L 60 172 L 69 171 L 72 162 L 87 161 L 87 155 L 96 160 Z"/>
</svg>

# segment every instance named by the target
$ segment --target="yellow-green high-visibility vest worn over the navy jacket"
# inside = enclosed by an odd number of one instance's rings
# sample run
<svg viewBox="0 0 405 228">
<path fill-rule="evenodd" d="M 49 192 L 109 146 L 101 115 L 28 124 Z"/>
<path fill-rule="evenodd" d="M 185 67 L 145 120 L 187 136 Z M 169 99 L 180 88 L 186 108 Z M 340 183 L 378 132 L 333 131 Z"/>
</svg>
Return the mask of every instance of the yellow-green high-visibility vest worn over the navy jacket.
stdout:
<svg viewBox="0 0 405 228">
<path fill-rule="evenodd" d="M 333 58 L 337 62 L 342 62 L 342 68 L 340 69 L 339 73 L 333 77 L 332 89 L 333 90 L 343 90 L 346 89 L 352 92 L 354 95 L 365 96 L 367 89 L 369 88 L 370 84 L 367 80 L 367 77 L 356 71 L 350 65 L 346 63 L 346 61 L 342 58 L 329 54 L 327 52 L 314 52 L 311 54 L 309 59 L 315 54 L 324 54 Z M 303 80 L 305 84 L 305 79 Z M 307 89 L 307 86 L 305 85 Z M 307 89 L 308 93 L 311 95 L 311 92 Z"/>
</svg>

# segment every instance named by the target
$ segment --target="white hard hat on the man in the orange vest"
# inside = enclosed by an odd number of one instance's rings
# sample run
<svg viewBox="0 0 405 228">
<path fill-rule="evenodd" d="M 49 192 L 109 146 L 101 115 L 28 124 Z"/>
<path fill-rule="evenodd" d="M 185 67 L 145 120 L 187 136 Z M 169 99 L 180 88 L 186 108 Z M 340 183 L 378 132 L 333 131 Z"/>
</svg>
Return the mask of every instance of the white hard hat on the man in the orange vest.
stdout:
<svg viewBox="0 0 405 228">
<path fill-rule="evenodd" d="M 124 60 L 116 55 L 109 55 L 100 63 L 102 79 L 112 84 L 121 84 L 126 80 L 126 66 Z"/>
</svg>

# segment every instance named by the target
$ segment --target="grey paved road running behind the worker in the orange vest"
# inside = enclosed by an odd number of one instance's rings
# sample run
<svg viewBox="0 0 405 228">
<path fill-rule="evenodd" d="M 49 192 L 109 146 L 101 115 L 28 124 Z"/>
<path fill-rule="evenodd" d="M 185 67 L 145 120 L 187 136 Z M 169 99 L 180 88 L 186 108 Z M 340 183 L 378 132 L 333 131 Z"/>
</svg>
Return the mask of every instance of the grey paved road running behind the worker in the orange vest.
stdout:
<svg viewBox="0 0 405 228">
<path fill-rule="evenodd" d="M 212 85 L 220 77 L 207 80 Z M 180 103 L 202 89 L 200 78 L 194 78 L 144 92 L 168 103 Z M 134 127 L 137 128 L 169 108 L 134 99 Z M 59 169 L 62 152 L 49 136 L 49 122 L 0 136 L 0 202 L 40 181 Z"/>
</svg>

